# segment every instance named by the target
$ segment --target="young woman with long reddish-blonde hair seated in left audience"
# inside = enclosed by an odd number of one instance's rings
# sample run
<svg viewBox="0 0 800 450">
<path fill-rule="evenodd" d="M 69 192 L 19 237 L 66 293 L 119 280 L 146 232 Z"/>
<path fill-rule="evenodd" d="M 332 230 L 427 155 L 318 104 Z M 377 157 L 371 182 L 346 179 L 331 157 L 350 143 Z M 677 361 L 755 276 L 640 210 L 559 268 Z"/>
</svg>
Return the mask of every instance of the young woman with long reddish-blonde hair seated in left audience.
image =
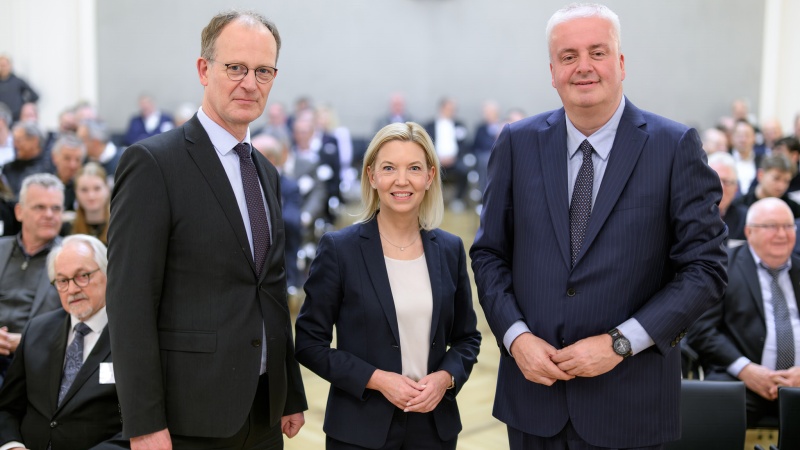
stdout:
<svg viewBox="0 0 800 450">
<path fill-rule="evenodd" d="M 97 163 L 86 163 L 75 175 L 78 208 L 69 234 L 88 234 L 108 245 L 111 189 L 106 171 Z"/>
</svg>

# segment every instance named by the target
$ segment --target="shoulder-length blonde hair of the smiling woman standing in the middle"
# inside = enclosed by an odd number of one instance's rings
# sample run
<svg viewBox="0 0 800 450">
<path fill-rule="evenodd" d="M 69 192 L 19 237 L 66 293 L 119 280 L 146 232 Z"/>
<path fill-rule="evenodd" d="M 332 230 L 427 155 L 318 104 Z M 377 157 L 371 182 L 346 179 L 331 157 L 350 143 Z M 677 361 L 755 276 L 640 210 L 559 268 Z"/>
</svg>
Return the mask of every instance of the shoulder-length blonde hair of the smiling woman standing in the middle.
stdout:
<svg viewBox="0 0 800 450">
<path fill-rule="evenodd" d="M 441 167 L 439 167 L 439 157 L 436 156 L 436 149 L 428 133 L 418 123 L 393 123 L 381 128 L 372 142 L 367 147 L 364 154 L 364 165 L 361 169 L 361 204 L 362 210 L 358 215 L 359 222 L 372 220 L 380 210 L 380 198 L 375 189 L 369 182 L 367 169 L 375 170 L 375 160 L 380 149 L 388 142 L 401 141 L 413 142 L 425 152 L 426 170 L 433 167 L 433 180 L 431 187 L 425 191 L 425 198 L 419 208 L 419 226 L 425 230 L 432 230 L 442 223 L 444 217 L 444 198 L 442 196 L 442 177 Z"/>
</svg>

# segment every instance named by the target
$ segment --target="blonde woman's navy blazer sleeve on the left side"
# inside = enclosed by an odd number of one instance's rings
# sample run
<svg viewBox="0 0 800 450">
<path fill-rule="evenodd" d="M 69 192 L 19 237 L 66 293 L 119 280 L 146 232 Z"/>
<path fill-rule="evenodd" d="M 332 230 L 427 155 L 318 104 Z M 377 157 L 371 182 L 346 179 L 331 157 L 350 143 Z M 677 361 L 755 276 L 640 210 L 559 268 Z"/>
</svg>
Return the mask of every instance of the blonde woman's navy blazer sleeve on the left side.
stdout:
<svg viewBox="0 0 800 450">
<path fill-rule="evenodd" d="M 331 348 L 333 326 L 344 300 L 343 282 L 336 242 L 326 234 L 305 284 L 306 299 L 295 324 L 295 351 L 300 364 L 337 388 L 363 398 L 377 368 L 352 353 Z"/>
</svg>

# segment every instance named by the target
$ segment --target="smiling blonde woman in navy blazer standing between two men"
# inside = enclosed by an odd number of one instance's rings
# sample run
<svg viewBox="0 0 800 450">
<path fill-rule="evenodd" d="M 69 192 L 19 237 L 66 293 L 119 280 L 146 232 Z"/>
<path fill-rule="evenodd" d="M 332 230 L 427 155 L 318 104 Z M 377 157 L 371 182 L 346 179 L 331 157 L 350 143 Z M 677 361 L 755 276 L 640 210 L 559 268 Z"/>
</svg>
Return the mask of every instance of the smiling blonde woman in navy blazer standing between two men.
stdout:
<svg viewBox="0 0 800 450">
<path fill-rule="evenodd" d="M 331 382 L 327 448 L 455 449 L 481 336 L 463 243 L 436 228 L 439 161 L 420 125 L 378 132 L 361 190 L 360 222 L 320 241 L 296 324 L 297 360 Z"/>
</svg>

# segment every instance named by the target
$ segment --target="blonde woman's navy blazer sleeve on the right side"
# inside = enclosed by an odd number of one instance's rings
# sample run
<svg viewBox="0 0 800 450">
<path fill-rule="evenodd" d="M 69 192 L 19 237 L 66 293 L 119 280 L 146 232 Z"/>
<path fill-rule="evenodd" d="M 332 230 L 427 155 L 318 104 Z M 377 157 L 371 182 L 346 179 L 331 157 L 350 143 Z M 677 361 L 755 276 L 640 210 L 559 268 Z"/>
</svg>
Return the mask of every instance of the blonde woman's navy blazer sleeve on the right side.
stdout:
<svg viewBox="0 0 800 450">
<path fill-rule="evenodd" d="M 458 287 L 453 298 L 453 328 L 447 337 L 450 349 L 444 355 L 439 368 L 455 378 L 455 394 L 467 382 L 472 366 L 478 362 L 481 333 L 477 329 L 478 318 L 472 306 L 472 286 L 467 274 L 467 255 L 464 244 L 458 239 Z"/>
</svg>

